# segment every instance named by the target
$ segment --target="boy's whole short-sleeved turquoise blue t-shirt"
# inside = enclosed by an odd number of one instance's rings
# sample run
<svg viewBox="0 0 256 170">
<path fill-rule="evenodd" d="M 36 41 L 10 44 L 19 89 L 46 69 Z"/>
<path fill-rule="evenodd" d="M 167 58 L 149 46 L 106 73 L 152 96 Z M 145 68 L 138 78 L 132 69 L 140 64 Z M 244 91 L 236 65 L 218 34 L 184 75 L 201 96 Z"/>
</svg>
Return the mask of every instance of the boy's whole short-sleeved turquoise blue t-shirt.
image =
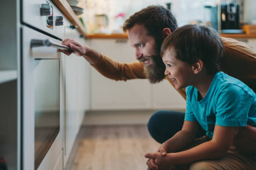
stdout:
<svg viewBox="0 0 256 170">
<path fill-rule="evenodd" d="M 209 90 L 197 101 L 198 91 L 186 88 L 185 120 L 198 121 L 212 138 L 214 126 L 256 126 L 256 94 L 246 84 L 223 72 L 214 76 Z"/>
</svg>

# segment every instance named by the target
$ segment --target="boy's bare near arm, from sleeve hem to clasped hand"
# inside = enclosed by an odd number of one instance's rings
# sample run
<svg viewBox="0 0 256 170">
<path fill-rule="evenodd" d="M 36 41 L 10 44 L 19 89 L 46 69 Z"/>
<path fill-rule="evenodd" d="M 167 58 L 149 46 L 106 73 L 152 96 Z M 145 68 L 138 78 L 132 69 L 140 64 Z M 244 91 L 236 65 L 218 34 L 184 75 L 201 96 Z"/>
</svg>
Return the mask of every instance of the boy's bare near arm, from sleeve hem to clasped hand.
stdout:
<svg viewBox="0 0 256 170">
<path fill-rule="evenodd" d="M 154 158 L 159 169 L 168 168 L 174 164 L 192 163 L 197 160 L 220 158 L 227 153 L 228 148 L 233 142 L 235 131 L 236 127 L 215 125 L 213 138 L 208 142 L 182 152 L 168 153 L 165 157 L 157 153 L 148 153 L 145 157 Z"/>
</svg>

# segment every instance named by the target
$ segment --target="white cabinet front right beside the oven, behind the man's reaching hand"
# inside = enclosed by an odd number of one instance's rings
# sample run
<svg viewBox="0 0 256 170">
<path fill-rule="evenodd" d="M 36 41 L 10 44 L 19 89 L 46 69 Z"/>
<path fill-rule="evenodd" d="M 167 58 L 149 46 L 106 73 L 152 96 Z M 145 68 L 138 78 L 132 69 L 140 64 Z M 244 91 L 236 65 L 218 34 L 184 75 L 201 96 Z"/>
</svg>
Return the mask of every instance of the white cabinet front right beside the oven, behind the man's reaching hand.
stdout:
<svg viewBox="0 0 256 170">
<path fill-rule="evenodd" d="M 65 22 L 65 38 L 85 44 L 84 37 Z M 71 153 L 74 141 L 82 125 L 84 113 L 89 109 L 89 73 L 90 65 L 74 54 L 65 56 L 65 116 L 64 116 L 64 167 Z"/>
</svg>

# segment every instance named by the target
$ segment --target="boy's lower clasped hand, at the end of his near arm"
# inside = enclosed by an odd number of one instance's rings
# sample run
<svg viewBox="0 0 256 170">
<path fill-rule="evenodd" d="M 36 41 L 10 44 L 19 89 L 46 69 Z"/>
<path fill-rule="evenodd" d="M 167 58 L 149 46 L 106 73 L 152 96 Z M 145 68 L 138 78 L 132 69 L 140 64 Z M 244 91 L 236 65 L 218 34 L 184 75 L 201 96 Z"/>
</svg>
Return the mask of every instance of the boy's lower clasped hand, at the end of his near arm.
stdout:
<svg viewBox="0 0 256 170">
<path fill-rule="evenodd" d="M 149 158 L 149 160 L 154 160 L 154 167 L 148 167 L 150 170 L 167 170 L 171 164 L 168 157 L 162 156 L 161 153 L 146 153 L 145 158 Z M 148 165 L 148 164 L 147 164 Z"/>
</svg>

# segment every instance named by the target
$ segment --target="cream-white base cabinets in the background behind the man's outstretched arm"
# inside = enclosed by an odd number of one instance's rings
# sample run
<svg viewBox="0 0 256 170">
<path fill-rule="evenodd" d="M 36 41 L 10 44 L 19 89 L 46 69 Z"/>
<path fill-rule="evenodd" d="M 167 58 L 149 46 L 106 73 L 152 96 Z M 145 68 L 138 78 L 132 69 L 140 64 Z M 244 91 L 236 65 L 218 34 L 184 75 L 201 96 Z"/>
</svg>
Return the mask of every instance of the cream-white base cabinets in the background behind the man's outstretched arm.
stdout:
<svg viewBox="0 0 256 170">
<path fill-rule="evenodd" d="M 90 39 L 88 45 L 118 62 L 136 60 L 128 39 Z M 154 85 L 147 79 L 115 81 L 92 67 L 91 89 L 92 110 L 185 108 L 185 100 L 166 80 Z"/>
</svg>

